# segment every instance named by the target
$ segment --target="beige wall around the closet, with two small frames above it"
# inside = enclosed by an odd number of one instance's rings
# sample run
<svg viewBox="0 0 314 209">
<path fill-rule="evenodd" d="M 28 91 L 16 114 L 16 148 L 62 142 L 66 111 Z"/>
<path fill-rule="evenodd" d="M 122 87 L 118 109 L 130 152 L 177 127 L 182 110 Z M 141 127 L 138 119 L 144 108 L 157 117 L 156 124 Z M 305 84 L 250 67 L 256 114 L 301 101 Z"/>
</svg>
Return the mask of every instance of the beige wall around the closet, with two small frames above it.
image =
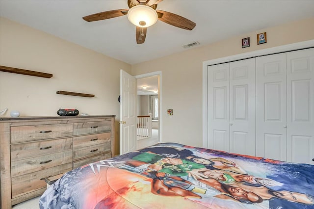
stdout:
<svg viewBox="0 0 314 209">
<path fill-rule="evenodd" d="M 257 34 L 267 43 L 257 45 Z M 209 34 L 210 35 L 210 34 Z M 250 37 L 250 47 L 241 48 Z M 132 65 L 132 75 L 162 71 L 162 142 L 201 147 L 203 61 L 314 39 L 314 18 L 242 34 L 207 46 Z M 173 115 L 167 115 L 173 109 Z"/>
</svg>

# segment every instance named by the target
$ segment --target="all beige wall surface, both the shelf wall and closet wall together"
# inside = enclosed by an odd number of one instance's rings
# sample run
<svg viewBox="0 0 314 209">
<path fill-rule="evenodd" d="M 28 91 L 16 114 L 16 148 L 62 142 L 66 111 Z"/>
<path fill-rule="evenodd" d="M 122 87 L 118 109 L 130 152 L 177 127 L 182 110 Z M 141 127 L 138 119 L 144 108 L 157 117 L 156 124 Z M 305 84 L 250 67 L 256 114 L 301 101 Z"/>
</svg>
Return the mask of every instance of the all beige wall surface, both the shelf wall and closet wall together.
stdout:
<svg viewBox="0 0 314 209">
<path fill-rule="evenodd" d="M 130 66 L 47 33 L 0 18 L 0 65 L 53 74 L 39 78 L 0 72 L 0 110 L 17 109 L 21 116 L 56 115 L 62 108 L 89 114 L 116 115 L 120 69 L 132 75 L 162 71 L 162 141 L 202 146 L 203 61 L 314 39 L 314 18 L 265 28 L 207 46 Z M 257 45 L 256 34 L 267 32 Z M 210 35 L 210 34 L 209 34 Z M 251 46 L 241 48 L 250 37 Z M 94 98 L 57 95 L 58 90 L 95 94 Z M 173 109 L 173 115 L 167 115 Z"/>
</svg>

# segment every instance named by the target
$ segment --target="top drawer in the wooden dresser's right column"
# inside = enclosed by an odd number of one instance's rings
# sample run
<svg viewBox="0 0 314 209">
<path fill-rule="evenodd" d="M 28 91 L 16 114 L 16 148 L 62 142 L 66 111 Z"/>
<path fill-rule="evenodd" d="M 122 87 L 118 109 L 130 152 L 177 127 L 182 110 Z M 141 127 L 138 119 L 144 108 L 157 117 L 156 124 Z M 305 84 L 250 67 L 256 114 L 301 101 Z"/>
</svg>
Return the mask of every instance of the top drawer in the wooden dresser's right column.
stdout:
<svg viewBox="0 0 314 209">
<path fill-rule="evenodd" d="M 83 135 L 110 131 L 111 121 L 94 121 L 73 124 L 73 135 Z"/>
</svg>

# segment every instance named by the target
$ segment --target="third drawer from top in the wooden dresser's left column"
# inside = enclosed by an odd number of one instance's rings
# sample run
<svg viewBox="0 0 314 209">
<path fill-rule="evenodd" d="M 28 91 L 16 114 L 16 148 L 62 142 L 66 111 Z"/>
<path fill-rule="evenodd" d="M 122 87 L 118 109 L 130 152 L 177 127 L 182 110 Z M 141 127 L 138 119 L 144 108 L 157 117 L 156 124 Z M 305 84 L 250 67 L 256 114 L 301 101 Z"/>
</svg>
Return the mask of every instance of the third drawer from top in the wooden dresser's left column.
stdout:
<svg viewBox="0 0 314 209">
<path fill-rule="evenodd" d="M 57 165 L 72 162 L 72 160 L 73 151 L 71 149 L 49 155 L 11 161 L 11 176 L 16 177 L 40 171 Z"/>
</svg>

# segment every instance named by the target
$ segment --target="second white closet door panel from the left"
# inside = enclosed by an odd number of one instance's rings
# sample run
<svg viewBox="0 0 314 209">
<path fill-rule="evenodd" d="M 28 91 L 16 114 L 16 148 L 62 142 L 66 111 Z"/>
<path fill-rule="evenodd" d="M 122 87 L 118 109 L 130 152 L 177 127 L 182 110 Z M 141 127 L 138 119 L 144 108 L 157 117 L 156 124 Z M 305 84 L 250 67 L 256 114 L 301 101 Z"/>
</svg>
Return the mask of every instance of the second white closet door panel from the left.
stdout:
<svg viewBox="0 0 314 209">
<path fill-rule="evenodd" d="M 255 58 L 230 63 L 230 152 L 255 156 Z"/>
</svg>

